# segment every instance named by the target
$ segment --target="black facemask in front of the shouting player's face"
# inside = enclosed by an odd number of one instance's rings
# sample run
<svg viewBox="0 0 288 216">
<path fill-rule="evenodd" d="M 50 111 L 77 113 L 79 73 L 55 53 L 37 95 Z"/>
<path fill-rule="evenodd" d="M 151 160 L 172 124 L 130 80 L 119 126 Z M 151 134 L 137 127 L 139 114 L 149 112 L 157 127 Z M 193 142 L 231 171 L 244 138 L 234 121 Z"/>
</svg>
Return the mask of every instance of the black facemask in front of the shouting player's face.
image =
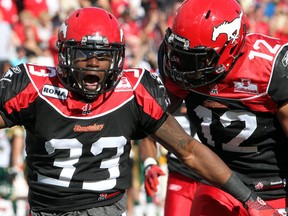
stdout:
<svg viewBox="0 0 288 216">
<path fill-rule="evenodd" d="M 65 42 L 59 46 L 59 72 L 60 79 L 66 87 L 72 91 L 76 91 L 87 99 L 95 99 L 102 93 L 112 90 L 119 82 L 123 71 L 124 44 L 103 44 L 89 43 L 85 41 L 85 45 L 74 41 Z M 93 67 L 82 68 L 76 65 L 77 61 L 87 60 L 89 58 L 99 58 L 109 60 L 110 67 L 108 69 L 100 69 Z M 89 72 L 88 72 L 89 71 Z M 104 73 L 103 80 L 93 72 Z M 96 87 L 89 89 L 85 87 L 85 83 L 97 83 Z"/>
</svg>

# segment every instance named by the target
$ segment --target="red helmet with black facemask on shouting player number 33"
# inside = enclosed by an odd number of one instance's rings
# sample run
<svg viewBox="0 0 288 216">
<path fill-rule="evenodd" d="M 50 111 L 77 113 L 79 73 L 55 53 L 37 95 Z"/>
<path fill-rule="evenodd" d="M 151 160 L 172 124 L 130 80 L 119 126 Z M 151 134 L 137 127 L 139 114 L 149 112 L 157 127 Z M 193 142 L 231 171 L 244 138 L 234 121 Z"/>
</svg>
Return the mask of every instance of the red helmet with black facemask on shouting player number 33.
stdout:
<svg viewBox="0 0 288 216">
<path fill-rule="evenodd" d="M 73 12 L 60 26 L 58 31 L 59 65 L 58 76 L 70 90 L 76 91 L 87 99 L 113 89 L 119 82 L 125 54 L 123 31 L 117 19 L 109 12 L 97 8 L 81 8 Z M 112 59 L 109 69 L 77 67 L 77 58 L 93 55 Z M 95 90 L 84 87 L 85 71 L 105 73 L 105 78 Z M 91 79 L 91 77 L 89 78 Z"/>
</svg>

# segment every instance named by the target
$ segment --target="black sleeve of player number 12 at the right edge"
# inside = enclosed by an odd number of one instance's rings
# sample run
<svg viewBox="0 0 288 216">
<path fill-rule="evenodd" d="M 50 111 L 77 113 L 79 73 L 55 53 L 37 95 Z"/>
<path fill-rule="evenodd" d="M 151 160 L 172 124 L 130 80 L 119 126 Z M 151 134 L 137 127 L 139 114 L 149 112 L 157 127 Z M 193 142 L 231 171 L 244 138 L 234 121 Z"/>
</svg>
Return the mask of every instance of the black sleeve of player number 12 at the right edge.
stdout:
<svg viewBox="0 0 288 216">
<path fill-rule="evenodd" d="M 283 46 L 274 62 L 268 94 L 278 104 L 288 101 L 288 44 Z"/>
</svg>

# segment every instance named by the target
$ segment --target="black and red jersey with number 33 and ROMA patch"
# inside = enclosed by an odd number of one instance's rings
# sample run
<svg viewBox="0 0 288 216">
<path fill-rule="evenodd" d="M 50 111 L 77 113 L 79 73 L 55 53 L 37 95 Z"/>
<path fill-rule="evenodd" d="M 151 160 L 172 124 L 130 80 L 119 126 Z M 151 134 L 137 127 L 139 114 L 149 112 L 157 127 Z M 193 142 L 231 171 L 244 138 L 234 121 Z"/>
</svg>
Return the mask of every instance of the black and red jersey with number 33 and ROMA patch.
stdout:
<svg viewBox="0 0 288 216">
<path fill-rule="evenodd" d="M 7 126 L 26 129 L 34 211 L 67 212 L 119 200 L 130 187 L 131 139 L 154 133 L 167 118 L 163 84 L 144 69 L 124 70 L 113 91 L 91 102 L 67 90 L 54 67 L 22 64 L 5 73 L 0 95 Z"/>
</svg>

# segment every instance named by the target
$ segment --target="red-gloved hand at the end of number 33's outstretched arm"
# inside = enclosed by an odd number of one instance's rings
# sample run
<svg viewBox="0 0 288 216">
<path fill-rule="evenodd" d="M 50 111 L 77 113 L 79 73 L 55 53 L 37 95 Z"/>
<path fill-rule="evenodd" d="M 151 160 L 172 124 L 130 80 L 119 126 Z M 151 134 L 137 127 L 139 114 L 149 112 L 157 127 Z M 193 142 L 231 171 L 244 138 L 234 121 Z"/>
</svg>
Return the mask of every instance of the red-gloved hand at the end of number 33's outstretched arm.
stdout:
<svg viewBox="0 0 288 216">
<path fill-rule="evenodd" d="M 250 199 L 245 203 L 248 213 L 250 216 L 283 216 L 278 212 L 277 209 L 274 209 L 272 206 L 268 205 L 264 200 L 259 196 L 250 197 Z"/>
</svg>

